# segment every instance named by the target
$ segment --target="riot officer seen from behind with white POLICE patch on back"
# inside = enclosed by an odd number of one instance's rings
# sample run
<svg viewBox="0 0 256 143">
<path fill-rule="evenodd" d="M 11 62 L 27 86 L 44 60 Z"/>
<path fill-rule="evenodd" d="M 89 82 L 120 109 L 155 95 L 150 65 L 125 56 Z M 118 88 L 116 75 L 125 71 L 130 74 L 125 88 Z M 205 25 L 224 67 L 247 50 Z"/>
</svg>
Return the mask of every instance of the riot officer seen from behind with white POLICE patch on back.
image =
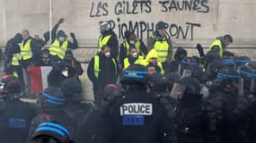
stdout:
<svg viewBox="0 0 256 143">
<path fill-rule="evenodd" d="M 159 142 L 163 111 L 154 96 L 146 93 L 143 83 L 146 72 L 142 70 L 143 66 L 137 66 L 125 71 L 121 83 L 128 86 L 126 96 L 117 98 L 110 108 L 114 132 L 111 142 Z"/>
</svg>

